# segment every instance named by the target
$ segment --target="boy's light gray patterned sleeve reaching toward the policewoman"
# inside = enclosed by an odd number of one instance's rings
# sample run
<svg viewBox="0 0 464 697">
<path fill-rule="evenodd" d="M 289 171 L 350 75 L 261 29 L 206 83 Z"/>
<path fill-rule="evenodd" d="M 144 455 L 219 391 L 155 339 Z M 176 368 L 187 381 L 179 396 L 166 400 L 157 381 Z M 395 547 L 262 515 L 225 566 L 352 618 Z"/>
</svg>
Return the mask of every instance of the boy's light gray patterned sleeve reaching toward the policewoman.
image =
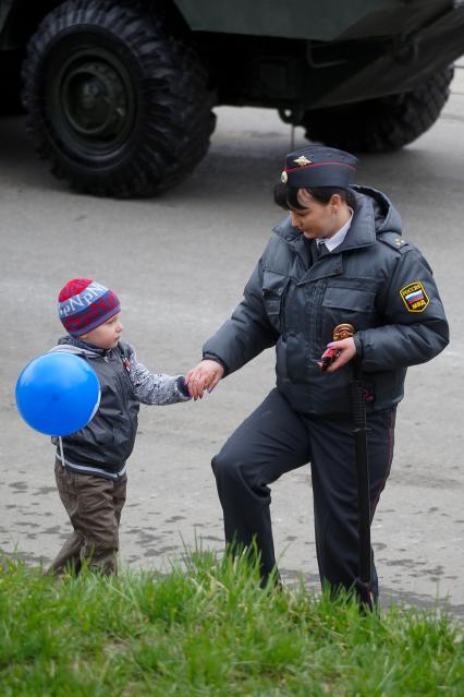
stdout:
<svg viewBox="0 0 464 697">
<path fill-rule="evenodd" d="M 144 405 L 172 405 L 176 401 L 188 401 L 188 387 L 183 375 L 164 375 L 150 373 L 138 363 L 135 350 L 131 347 L 129 376 L 134 395 Z"/>
</svg>

